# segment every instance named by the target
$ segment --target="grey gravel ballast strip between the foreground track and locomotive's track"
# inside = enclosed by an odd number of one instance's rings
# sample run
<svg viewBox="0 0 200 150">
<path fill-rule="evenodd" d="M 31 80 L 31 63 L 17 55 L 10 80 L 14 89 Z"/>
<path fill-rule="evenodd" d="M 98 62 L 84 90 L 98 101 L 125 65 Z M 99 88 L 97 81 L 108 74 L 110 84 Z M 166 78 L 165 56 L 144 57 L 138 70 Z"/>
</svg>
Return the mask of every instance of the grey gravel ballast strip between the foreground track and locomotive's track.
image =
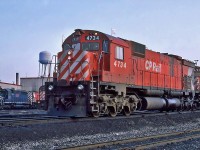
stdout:
<svg viewBox="0 0 200 150">
<path fill-rule="evenodd" d="M 141 118 L 1 126 L 0 149 L 53 150 L 196 128 L 200 128 L 200 112 Z"/>
</svg>

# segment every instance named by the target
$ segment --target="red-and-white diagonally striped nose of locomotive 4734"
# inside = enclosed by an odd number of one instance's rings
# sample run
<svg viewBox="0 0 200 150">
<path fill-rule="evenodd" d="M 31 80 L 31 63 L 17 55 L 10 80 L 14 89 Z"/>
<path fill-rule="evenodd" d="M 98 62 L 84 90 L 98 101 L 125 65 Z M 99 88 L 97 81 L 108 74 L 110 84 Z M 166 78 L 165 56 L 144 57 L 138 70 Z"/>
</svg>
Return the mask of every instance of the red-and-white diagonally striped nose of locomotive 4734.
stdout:
<svg viewBox="0 0 200 150">
<path fill-rule="evenodd" d="M 90 55 L 80 50 L 80 43 L 73 50 L 58 53 L 58 79 L 67 81 L 87 81 L 90 78 Z"/>
</svg>

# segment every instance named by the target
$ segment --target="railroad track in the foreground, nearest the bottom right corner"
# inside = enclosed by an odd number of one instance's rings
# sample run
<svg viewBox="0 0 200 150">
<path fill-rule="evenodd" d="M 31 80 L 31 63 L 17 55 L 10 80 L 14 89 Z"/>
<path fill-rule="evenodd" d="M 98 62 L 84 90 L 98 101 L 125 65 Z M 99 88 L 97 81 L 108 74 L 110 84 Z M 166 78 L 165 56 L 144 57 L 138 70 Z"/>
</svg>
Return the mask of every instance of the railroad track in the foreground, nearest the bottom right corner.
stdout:
<svg viewBox="0 0 200 150">
<path fill-rule="evenodd" d="M 200 129 L 62 148 L 61 150 L 144 150 L 200 138 Z M 159 148 L 158 148 L 159 149 Z"/>
</svg>

